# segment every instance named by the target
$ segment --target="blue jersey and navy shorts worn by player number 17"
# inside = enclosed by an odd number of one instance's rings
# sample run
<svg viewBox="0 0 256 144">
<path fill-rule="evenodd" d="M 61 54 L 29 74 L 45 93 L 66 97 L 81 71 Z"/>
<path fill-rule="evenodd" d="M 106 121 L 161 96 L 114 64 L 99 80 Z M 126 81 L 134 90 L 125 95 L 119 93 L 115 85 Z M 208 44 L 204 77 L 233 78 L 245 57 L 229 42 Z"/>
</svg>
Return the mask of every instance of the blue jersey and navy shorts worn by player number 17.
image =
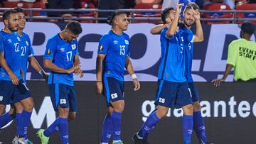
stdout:
<svg viewBox="0 0 256 144">
<path fill-rule="evenodd" d="M 52 60 L 53 64 L 68 70 L 73 67 L 75 55 L 79 55 L 78 40 L 68 42 L 61 39 L 58 33 L 48 40 L 43 59 Z M 69 107 L 70 111 L 78 110 L 73 73 L 63 74 L 51 71 L 48 77 L 48 87 L 55 111 L 58 110 L 58 106 Z"/>
</svg>

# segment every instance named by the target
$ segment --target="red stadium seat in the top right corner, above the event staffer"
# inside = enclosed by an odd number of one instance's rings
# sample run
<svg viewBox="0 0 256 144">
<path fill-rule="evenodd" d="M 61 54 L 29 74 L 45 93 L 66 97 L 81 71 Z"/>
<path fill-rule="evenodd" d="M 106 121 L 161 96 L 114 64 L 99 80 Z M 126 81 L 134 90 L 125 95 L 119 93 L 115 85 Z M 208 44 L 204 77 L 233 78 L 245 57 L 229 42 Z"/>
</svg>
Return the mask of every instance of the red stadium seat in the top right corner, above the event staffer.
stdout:
<svg viewBox="0 0 256 144">
<path fill-rule="evenodd" d="M 256 10 L 256 4 L 247 4 L 245 2 L 239 2 L 235 9 L 237 10 Z M 256 18 L 256 13 L 237 13 L 238 18 Z M 238 21 L 238 23 L 242 23 L 243 21 Z M 252 23 L 256 24 L 256 21 L 252 21 Z"/>
</svg>

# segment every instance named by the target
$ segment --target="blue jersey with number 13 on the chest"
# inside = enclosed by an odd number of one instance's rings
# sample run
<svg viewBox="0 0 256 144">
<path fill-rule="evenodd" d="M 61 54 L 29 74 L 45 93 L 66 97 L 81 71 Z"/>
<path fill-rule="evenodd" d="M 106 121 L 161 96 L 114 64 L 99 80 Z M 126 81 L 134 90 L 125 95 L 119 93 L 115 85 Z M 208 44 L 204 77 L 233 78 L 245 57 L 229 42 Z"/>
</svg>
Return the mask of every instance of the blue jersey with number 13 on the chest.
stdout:
<svg viewBox="0 0 256 144">
<path fill-rule="evenodd" d="M 129 52 L 129 35 L 116 35 L 113 31 L 100 38 L 98 54 L 105 55 L 103 62 L 103 77 L 114 77 L 124 81 L 124 67 Z"/>
</svg>

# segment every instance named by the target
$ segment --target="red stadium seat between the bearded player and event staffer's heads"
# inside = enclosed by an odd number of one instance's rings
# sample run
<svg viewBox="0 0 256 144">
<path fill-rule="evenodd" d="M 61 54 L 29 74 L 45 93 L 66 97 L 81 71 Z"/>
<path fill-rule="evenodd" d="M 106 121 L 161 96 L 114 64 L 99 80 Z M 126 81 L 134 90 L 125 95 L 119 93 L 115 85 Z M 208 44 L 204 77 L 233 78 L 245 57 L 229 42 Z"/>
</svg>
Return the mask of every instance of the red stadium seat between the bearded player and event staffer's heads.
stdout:
<svg viewBox="0 0 256 144">
<path fill-rule="evenodd" d="M 222 10 L 230 10 L 230 6 L 227 4 L 206 4 L 203 6 L 205 10 L 220 10 L 220 12 L 216 13 L 202 13 L 203 18 L 233 18 L 232 13 L 223 13 Z M 213 24 L 213 23 L 230 23 L 230 21 L 206 21 L 206 24 Z"/>
</svg>

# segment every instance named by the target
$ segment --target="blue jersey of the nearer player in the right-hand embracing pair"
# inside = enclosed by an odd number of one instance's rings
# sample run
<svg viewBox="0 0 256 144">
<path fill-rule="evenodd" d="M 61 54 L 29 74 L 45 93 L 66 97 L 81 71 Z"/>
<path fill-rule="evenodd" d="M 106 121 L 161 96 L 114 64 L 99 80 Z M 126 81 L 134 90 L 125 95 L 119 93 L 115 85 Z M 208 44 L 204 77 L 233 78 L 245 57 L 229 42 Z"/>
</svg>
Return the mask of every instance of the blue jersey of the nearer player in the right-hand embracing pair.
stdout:
<svg viewBox="0 0 256 144">
<path fill-rule="evenodd" d="M 166 38 L 164 28 L 161 31 L 161 63 L 159 65 L 158 79 L 170 82 L 186 82 L 184 75 L 184 49 L 182 33 L 175 33 L 171 38 Z"/>
</svg>

